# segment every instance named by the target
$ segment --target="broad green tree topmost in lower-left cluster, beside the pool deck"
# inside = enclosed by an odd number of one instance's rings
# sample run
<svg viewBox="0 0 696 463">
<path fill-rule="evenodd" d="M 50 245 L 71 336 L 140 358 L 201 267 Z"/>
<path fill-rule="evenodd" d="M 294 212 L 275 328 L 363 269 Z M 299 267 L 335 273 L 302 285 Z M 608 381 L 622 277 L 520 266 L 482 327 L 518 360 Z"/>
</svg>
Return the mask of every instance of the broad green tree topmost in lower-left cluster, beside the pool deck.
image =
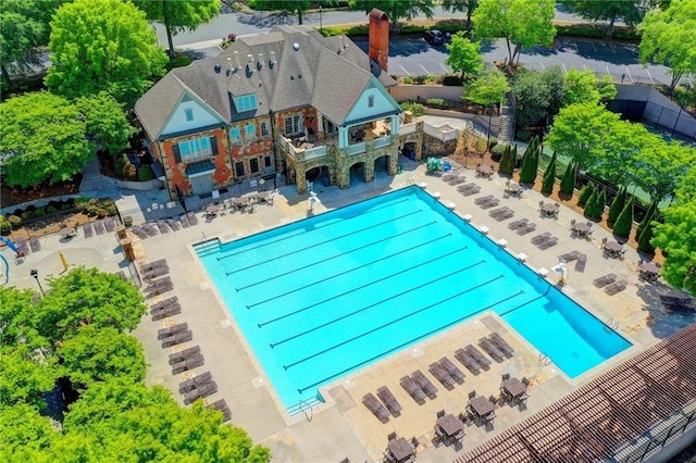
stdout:
<svg viewBox="0 0 696 463">
<path fill-rule="evenodd" d="M 51 289 L 34 315 L 36 329 L 48 339 L 66 340 L 84 325 L 133 330 L 146 312 L 137 288 L 114 274 L 77 267 L 48 283 Z"/>
</svg>

